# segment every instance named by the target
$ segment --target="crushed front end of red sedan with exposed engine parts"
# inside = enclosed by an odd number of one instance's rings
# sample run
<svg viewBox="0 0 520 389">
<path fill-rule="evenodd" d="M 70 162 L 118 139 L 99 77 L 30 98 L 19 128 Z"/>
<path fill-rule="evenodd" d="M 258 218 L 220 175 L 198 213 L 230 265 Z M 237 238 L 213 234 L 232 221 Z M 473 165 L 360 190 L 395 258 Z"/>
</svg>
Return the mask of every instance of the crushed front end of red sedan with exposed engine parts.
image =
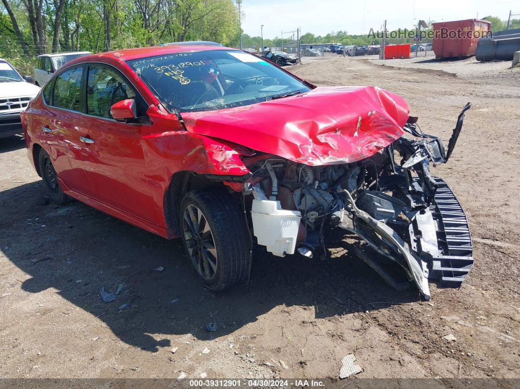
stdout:
<svg viewBox="0 0 520 389">
<path fill-rule="evenodd" d="M 459 115 L 447 150 L 410 117 L 404 136 L 356 162 L 308 166 L 273 154 L 244 159 L 252 173 L 244 194 L 254 196 L 258 244 L 280 257 L 296 251 L 324 257 L 327 231 L 339 227 L 400 265 L 427 300 L 428 279 L 460 286 L 473 264 L 469 226 L 430 165 L 447 162 L 470 106 Z"/>
</svg>

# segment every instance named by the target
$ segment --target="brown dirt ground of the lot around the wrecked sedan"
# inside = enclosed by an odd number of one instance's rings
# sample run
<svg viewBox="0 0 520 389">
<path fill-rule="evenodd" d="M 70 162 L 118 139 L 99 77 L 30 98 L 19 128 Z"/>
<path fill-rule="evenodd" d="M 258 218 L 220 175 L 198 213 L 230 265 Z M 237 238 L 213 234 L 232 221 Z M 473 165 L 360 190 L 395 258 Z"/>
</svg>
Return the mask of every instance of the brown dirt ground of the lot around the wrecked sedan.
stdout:
<svg viewBox="0 0 520 389">
<path fill-rule="evenodd" d="M 502 63 L 500 76 L 482 78 L 497 65 L 403 63 L 331 55 L 290 70 L 318 85 L 396 92 L 445 142 L 473 103 L 449 164 L 434 170 L 474 239 L 460 289 L 430 284 L 425 302 L 348 252 L 317 262 L 258 248 L 249 285 L 212 293 L 178 240 L 79 202 L 41 205 L 43 184 L 13 137 L 0 140 L 0 377 L 335 379 L 353 353 L 363 371 L 349 380 L 520 378 L 520 70 Z M 115 301 L 101 300 L 100 288 L 120 284 Z"/>
</svg>

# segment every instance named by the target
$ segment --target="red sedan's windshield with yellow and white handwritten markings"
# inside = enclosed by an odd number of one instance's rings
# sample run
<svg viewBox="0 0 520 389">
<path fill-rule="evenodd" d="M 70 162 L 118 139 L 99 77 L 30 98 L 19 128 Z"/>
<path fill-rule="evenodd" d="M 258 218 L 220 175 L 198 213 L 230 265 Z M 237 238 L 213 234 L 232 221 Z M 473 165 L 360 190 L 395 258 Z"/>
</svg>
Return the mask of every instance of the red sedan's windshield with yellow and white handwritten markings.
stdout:
<svg viewBox="0 0 520 389">
<path fill-rule="evenodd" d="M 208 50 L 127 61 L 170 111 L 211 111 L 310 90 L 262 58 Z"/>
</svg>

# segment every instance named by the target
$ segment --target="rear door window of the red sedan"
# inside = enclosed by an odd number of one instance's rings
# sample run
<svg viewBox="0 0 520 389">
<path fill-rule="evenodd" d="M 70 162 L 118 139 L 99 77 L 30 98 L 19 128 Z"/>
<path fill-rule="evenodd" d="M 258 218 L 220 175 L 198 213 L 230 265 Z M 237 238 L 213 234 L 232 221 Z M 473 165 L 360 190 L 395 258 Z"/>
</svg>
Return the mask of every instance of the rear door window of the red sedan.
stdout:
<svg viewBox="0 0 520 389">
<path fill-rule="evenodd" d="M 80 111 L 83 66 L 70 69 L 56 77 L 53 106 Z"/>
</svg>

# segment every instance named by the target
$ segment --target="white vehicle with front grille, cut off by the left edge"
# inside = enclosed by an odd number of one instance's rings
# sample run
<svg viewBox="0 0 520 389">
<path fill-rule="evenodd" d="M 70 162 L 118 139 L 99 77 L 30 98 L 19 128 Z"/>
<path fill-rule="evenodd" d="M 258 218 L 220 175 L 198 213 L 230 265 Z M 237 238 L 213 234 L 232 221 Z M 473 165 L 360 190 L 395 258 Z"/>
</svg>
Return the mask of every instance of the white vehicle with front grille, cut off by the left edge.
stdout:
<svg viewBox="0 0 520 389">
<path fill-rule="evenodd" d="M 31 76 L 22 77 L 9 62 L 0 58 L 0 138 L 22 133 L 20 112 L 25 111 L 40 87 L 31 84 Z"/>
</svg>

